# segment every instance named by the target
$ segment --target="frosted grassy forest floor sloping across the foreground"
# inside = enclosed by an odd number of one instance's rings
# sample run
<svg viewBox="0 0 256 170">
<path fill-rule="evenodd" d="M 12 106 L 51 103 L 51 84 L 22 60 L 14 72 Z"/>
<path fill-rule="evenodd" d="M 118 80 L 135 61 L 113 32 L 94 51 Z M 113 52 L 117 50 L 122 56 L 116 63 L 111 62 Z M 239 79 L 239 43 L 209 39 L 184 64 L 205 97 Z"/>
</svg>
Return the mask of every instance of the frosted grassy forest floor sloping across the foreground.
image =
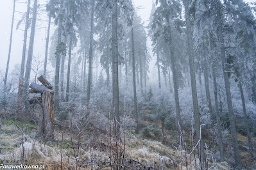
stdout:
<svg viewBox="0 0 256 170">
<path fill-rule="evenodd" d="M 34 123 L 15 120 L 14 117 L 2 118 L 1 164 L 44 164 L 45 169 L 76 169 L 76 166 L 79 169 L 111 169 L 115 165 L 123 165 L 126 169 L 186 169 L 187 161 L 189 169 L 194 169 L 194 157 L 197 164 L 199 162 L 196 155 L 189 157 L 182 148 L 175 148 L 177 143 L 171 134 L 167 135 L 168 143 L 164 145 L 160 139 L 149 140 L 125 130 L 125 142 L 117 143 L 112 137 L 110 143 L 108 134 L 97 132 L 95 128 L 76 134 L 68 128 L 56 127 L 55 141 L 41 143 L 44 140 L 36 137 L 36 127 Z M 246 137 L 241 134 L 238 139 L 239 143 L 246 142 Z M 241 156 L 243 161 L 248 160 L 245 151 Z M 183 164 L 180 164 L 181 160 Z M 207 162 L 208 167 L 214 165 L 214 169 L 230 169 L 228 162 L 216 163 L 212 158 Z"/>
</svg>

